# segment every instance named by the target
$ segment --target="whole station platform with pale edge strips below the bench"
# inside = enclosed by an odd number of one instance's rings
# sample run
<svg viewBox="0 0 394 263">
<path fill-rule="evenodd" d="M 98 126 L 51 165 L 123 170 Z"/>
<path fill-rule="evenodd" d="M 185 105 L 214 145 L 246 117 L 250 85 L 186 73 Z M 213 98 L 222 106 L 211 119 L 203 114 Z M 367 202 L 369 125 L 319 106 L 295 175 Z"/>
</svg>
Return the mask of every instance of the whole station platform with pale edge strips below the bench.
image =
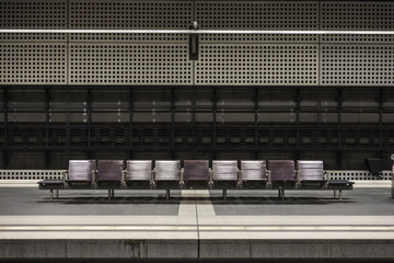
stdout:
<svg viewBox="0 0 394 263">
<path fill-rule="evenodd" d="M 394 260 L 391 182 L 331 191 L 60 191 L 0 185 L 3 260 Z"/>
</svg>

